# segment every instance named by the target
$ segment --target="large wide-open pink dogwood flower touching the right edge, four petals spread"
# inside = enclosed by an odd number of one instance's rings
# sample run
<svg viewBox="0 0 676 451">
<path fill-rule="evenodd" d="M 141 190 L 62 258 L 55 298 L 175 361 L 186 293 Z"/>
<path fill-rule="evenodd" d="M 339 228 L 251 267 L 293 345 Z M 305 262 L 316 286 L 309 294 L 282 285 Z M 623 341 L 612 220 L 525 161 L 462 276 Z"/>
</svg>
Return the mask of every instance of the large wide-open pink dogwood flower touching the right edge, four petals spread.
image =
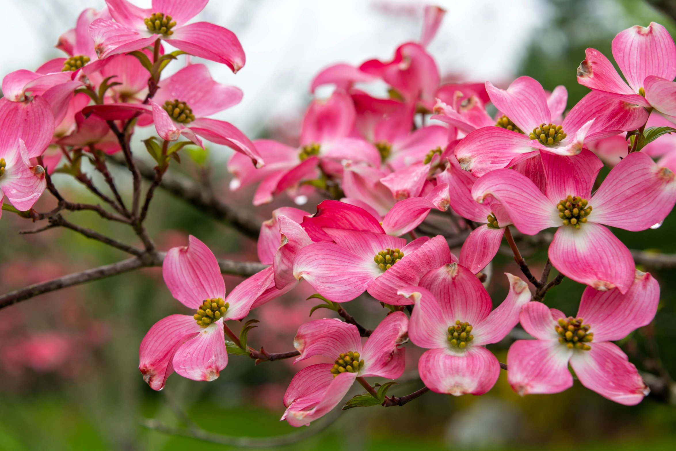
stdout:
<svg viewBox="0 0 676 451">
<path fill-rule="evenodd" d="M 516 228 L 534 235 L 556 227 L 549 257 L 561 273 L 597 290 L 625 293 L 635 265 L 627 246 L 602 224 L 646 230 L 660 223 L 676 203 L 676 176 L 648 155 L 630 153 L 596 190 L 592 186 L 603 163 L 583 150 L 574 157 L 540 155 L 546 177 L 543 192 L 514 169 L 497 169 L 479 178 L 472 189 L 477 202 L 491 195 L 506 209 Z M 627 206 L 649 206 L 627 215 Z"/>
</svg>

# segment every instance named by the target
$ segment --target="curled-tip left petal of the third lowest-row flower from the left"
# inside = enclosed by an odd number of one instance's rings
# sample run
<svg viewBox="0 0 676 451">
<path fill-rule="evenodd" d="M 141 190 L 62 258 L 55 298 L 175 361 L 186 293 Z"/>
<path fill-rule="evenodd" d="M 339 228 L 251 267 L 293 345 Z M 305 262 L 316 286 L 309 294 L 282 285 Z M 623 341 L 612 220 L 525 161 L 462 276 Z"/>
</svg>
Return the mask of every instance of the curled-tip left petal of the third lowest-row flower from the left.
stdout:
<svg viewBox="0 0 676 451">
<path fill-rule="evenodd" d="M 455 321 L 447 317 L 434 295 L 421 286 L 408 286 L 399 290 L 414 304 L 408 322 L 408 336 L 420 348 L 435 349 L 448 347 L 448 327 Z"/>
</svg>

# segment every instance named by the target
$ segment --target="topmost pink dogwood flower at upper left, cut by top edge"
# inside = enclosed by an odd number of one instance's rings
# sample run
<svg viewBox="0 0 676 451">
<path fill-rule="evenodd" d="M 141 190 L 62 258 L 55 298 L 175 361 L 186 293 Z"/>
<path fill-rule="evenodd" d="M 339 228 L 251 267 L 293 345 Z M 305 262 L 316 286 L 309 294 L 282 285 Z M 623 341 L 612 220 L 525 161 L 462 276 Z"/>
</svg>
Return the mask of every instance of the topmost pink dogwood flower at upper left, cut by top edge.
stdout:
<svg viewBox="0 0 676 451">
<path fill-rule="evenodd" d="M 89 27 L 99 58 L 127 53 L 162 39 L 196 57 L 223 63 L 237 73 L 245 63 L 235 33 L 209 22 L 189 20 L 204 9 L 209 0 L 153 0 L 151 9 L 139 8 L 126 0 L 106 0 L 115 20 L 99 18 Z"/>
</svg>

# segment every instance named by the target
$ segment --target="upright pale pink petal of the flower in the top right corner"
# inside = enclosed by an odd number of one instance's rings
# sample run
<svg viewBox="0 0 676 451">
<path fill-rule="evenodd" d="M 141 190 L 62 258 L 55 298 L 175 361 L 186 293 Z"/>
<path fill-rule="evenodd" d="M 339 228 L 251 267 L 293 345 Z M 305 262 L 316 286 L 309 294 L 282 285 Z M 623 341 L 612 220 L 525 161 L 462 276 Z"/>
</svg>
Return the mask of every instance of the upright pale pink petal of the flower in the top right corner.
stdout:
<svg viewBox="0 0 676 451">
<path fill-rule="evenodd" d="M 667 28 L 655 22 L 619 32 L 612 40 L 612 56 L 633 92 L 644 87 L 649 75 L 676 77 L 676 45 Z"/>
</svg>

